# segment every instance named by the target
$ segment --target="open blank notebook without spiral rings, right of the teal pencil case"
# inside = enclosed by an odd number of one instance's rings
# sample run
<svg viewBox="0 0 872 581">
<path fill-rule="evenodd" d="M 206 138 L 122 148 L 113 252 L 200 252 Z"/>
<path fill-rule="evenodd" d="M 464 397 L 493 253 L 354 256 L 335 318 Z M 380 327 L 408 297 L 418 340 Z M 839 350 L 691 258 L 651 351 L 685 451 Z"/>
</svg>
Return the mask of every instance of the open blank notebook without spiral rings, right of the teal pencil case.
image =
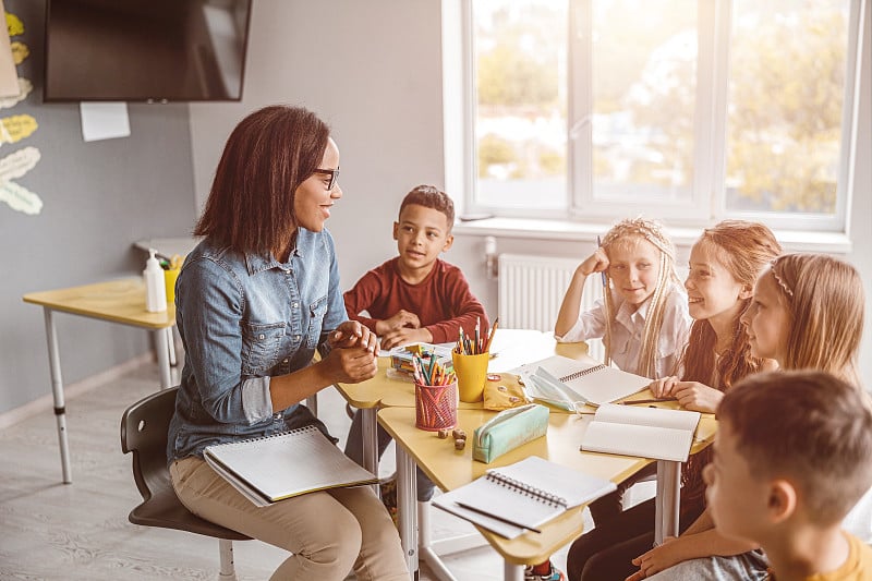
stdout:
<svg viewBox="0 0 872 581">
<path fill-rule="evenodd" d="M 700 412 L 604 404 L 584 432 L 581 449 L 685 462 Z"/>
</svg>

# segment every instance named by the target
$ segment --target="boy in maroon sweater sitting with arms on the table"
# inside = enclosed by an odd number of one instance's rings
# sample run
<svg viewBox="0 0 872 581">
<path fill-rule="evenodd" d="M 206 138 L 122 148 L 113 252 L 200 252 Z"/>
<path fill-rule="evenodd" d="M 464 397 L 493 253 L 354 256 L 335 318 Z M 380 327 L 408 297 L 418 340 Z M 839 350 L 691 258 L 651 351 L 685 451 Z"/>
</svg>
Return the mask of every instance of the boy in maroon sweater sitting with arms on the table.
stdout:
<svg viewBox="0 0 872 581">
<path fill-rule="evenodd" d="M 472 337 L 475 325 L 488 328 L 484 306 L 470 292 L 463 273 L 439 258 L 455 241 L 455 204 L 432 185 L 419 185 L 400 204 L 393 240 L 400 255 L 366 273 L 344 293 L 352 320 L 373 330 L 382 349 L 413 342 L 457 341 L 460 328 Z M 362 312 L 368 316 L 361 315 Z M 346 453 L 363 463 L 362 421 L 354 414 Z M 390 436 L 378 426 L 378 456 Z M 417 499 L 429 500 L 433 483 L 417 471 Z"/>
</svg>

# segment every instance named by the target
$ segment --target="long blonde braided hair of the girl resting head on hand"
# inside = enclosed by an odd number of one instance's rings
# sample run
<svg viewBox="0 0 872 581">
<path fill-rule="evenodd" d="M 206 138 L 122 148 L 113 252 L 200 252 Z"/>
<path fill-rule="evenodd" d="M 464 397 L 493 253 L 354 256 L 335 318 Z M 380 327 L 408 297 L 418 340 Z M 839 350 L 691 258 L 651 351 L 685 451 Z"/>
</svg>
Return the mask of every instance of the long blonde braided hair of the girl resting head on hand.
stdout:
<svg viewBox="0 0 872 581">
<path fill-rule="evenodd" d="M 675 270 L 675 245 L 664 232 L 659 222 L 640 217 L 621 220 L 613 226 L 603 238 L 603 250 L 608 254 L 611 247 L 638 243 L 640 240 L 650 242 L 661 251 L 657 283 L 654 288 L 654 293 L 651 295 L 651 303 L 645 315 L 642 349 L 639 353 L 639 363 L 635 370 L 637 375 L 654 377 L 656 373 L 657 343 L 659 341 L 661 326 L 663 325 L 663 312 L 668 296 L 667 290 L 670 283 L 681 283 Z M 606 269 L 606 290 L 608 291 L 610 289 L 608 269 Z M 608 365 L 611 363 L 611 319 L 616 307 L 611 292 L 605 292 L 604 300 L 606 306 L 606 332 L 603 343 L 606 348 L 605 364 Z"/>
</svg>

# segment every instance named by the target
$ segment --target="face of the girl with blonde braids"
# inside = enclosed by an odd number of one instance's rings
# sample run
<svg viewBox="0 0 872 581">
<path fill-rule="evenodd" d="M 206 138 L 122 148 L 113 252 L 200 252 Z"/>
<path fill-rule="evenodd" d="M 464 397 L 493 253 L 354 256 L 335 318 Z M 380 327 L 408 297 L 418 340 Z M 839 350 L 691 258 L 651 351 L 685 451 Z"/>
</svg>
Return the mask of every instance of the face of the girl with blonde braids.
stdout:
<svg viewBox="0 0 872 581">
<path fill-rule="evenodd" d="M 647 240 L 633 238 L 608 249 L 608 276 L 618 294 L 632 305 L 654 294 L 659 271 L 661 251 Z"/>
</svg>

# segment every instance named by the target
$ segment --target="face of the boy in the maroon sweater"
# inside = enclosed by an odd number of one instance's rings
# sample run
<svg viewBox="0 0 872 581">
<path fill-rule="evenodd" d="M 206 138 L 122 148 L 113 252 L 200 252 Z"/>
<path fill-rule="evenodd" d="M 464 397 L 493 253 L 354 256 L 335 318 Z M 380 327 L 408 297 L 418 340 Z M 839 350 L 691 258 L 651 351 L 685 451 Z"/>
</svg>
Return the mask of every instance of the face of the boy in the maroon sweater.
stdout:
<svg viewBox="0 0 872 581">
<path fill-rule="evenodd" d="M 448 218 L 441 211 L 409 204 L 393 222 L 393 240 L 400 252 L 400 263 L 407 268 L 432 266 L 440 252 L 451 247 L 455 237 L 449 232 Z"/>
</svg>

